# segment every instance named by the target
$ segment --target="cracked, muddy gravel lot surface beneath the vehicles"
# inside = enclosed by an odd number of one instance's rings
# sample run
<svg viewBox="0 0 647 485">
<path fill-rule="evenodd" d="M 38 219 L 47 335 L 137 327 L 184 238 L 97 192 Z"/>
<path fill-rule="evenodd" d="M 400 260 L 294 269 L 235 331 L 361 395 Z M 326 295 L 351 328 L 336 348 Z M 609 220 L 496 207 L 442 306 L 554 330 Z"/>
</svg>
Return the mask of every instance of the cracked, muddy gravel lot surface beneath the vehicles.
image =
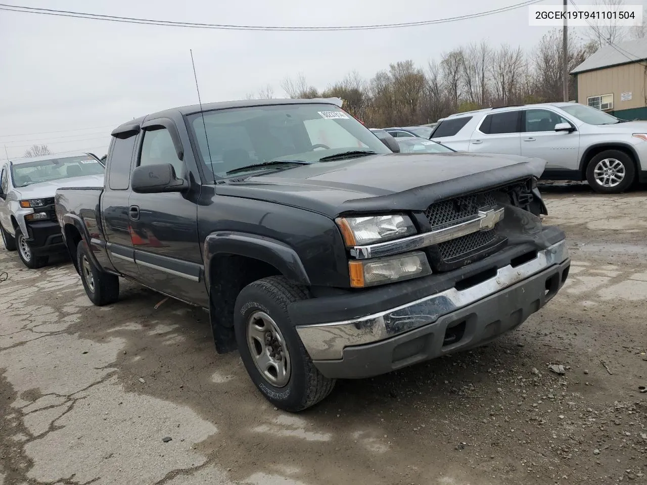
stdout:
<svg viewBox="0 0 647 485">
<path fill-rule="evenodd" d="M 0 485 L 644 482 L 647 195 L 544 190 L 573 257 L 547 307 L 300 415 L 215 354 L 202 310 L 130 284 L 96 308 L 69 263 L 0 250 Z"/>
</svg>

